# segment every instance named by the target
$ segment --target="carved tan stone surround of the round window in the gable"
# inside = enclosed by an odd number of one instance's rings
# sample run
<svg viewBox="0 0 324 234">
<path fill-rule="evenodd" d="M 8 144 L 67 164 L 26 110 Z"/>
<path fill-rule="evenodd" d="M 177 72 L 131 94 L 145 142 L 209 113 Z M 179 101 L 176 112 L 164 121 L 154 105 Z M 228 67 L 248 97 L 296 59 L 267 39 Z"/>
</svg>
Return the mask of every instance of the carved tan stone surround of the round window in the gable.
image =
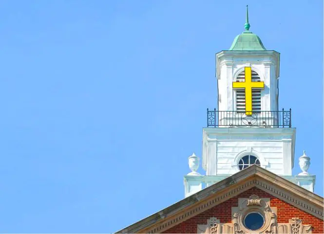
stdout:
<svg viewBox="0 0 324 234">
<path fill-rule="evenodd" d="M 232 207 L 232 222 L 220 223 L 216 217 L 211 217 L 206 224 L 198 224 L 198 234 L 304 234 L 311 233 L 311 225 L 303 225 L 302 220 L 293 217 L 288 223 L 277 223 L 277 208 L 270 207 L 270 199 L 260 199 L 256 195 L 248 199 L 239 198 L 239 206 Z M 258 213 L 264 218 L 264 223 L 258 230 L 249 230 L 244 219 L 250 213 Z"/>
</svg>

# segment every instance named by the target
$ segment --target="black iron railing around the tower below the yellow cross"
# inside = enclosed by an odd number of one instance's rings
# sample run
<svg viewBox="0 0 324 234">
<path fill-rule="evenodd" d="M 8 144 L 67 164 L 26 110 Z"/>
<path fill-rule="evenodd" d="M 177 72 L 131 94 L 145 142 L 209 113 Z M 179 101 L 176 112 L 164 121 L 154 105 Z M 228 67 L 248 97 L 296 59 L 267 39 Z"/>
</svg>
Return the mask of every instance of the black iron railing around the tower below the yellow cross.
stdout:
<svg viewBox="0 0 324 234">
<path fill-rule="evenodd" d="M 291 128 L 291 109 L 289 111 L 258 111 L 252 115 L 237 111 L 216 111 L 207 109 L 207 127 L 256 126 Z"/>
</svg>

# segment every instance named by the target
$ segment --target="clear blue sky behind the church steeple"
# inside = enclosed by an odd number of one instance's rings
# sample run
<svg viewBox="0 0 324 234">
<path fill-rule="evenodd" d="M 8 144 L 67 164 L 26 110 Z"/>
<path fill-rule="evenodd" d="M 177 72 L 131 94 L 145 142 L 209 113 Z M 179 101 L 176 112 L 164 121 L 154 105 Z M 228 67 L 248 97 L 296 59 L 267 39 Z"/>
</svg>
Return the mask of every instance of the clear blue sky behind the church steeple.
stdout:
<svg viewBox="0 0 324 234">
<path fill-rule="evenodd" d="M 112 233 L 183 199 L 246 4 L 323 196 L 323 1 L 1 0 L 0 232 Z"/>
</svg>

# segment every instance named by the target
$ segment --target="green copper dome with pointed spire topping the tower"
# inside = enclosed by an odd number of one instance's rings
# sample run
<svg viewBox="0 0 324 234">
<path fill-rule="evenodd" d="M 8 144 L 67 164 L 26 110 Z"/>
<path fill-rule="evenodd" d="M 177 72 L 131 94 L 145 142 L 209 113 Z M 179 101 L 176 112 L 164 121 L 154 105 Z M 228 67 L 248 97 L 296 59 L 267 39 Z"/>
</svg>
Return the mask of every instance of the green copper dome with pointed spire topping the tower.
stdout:
<svg viewBox="0 0 324 234">
<path fill-rule="evenodd" d="M 262 44 L 260 37 L 249 31 L 250 24 L 248 22 L 248 6 L 247 20 L 244 24 L 245 32 L 237 35 L 229 50 L 267 50 Z"/>
</svg>

